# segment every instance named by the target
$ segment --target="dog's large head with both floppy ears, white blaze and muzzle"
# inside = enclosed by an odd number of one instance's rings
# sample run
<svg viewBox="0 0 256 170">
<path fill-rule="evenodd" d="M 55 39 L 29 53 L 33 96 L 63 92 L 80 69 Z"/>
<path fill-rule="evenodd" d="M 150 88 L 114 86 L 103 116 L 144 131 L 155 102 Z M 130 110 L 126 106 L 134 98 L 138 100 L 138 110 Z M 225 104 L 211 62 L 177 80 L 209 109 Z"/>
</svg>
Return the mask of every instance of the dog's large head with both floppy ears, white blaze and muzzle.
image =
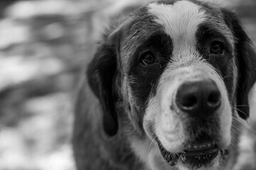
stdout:
<svg viewBox="0 0 256 170">
<path fill-rule="evenodd" d="M 132 122 L 124 124 L 153 141 L 162 159 L 199 169 L 218 166 L 232 121 L 249 116 L 254 64 L 234 13 L 192 0 L 160 1 L 107 34 L 87 74 L 107 135 L 117 133 L 122 106 Z"/>
</svg>

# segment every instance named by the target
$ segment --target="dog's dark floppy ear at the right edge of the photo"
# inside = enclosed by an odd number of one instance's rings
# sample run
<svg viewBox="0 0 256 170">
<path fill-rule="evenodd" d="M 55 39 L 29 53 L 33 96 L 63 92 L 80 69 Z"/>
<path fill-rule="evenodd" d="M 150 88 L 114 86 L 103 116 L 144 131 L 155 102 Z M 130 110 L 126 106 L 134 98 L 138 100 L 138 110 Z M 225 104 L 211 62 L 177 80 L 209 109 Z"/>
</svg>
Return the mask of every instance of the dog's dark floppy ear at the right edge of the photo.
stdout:
<svg viewBox="0 0 256 170">
<path fill-rule="evenodd" d="M 235 53 L 238 62 L 238 84 L 237 84 L 237 111 L 241 118 L 249 117 L 248 94 L 256 80 L 256 54 L 252 42 L 238 17 L 231 11 L 223 8 L 225 22 L 233 31 L 235 36 Z"/>
</svg>

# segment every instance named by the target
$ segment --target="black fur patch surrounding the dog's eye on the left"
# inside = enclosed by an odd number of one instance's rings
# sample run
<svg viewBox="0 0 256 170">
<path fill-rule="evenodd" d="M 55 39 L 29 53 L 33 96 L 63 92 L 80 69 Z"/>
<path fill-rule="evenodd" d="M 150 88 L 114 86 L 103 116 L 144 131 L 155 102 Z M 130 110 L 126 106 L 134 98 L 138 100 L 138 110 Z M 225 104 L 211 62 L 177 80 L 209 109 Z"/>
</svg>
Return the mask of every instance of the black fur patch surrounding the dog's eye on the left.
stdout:
<svg viewBox="0 0 256 170">
<path fill-rule="evenodd" d="M 137 47 L 134 52 L 131 67 L 129 68 L 129 82 L 132 88 L 132 95 L 142 108 L 146 107 L 149 94 L 156 94 L 159 77 L 168 64 L 171 52 L 172 42 L 169 35 L 161 33 L 153 33 L 142 45 Z M 144 52 L 151 52 L 156 57 L 156 62 L 144 66 L 142 64 L 142 56 Z"/>
</svg>

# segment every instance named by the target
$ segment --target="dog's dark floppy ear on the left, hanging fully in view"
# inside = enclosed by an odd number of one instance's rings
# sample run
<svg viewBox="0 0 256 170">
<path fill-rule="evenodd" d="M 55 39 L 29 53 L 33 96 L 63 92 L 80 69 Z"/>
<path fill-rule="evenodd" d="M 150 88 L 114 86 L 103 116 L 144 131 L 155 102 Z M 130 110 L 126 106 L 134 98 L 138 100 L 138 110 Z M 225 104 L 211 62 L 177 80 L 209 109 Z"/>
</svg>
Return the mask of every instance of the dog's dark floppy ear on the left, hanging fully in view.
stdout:
<svg viewBox="0 0 256 170">
<path fill-rule="evenodd" d="M 106 36 L 97 48 L 87 69 L 87 77 L 94 94 L 99 98 L 103 110 L 103 128 L 110 137 L 118 130 L 115 103 L 117 95 L 114 82 L 117 74 L 117 35 Z"/>
</svg>

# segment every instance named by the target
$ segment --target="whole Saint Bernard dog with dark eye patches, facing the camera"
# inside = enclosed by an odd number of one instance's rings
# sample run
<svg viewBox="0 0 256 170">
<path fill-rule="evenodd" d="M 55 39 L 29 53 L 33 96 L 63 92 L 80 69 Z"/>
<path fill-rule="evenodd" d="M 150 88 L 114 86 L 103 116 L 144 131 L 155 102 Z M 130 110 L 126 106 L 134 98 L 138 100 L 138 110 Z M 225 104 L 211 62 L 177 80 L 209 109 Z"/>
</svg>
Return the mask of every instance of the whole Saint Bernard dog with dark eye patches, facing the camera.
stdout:
<svg viewBox="0 0 256 170">
<path fill-rule="evenodd" d="M 233 169 L 256 80 L 235 13 L 157 1 L 111 26 L 75 103 L 77 169 Z"/>
</svg>

